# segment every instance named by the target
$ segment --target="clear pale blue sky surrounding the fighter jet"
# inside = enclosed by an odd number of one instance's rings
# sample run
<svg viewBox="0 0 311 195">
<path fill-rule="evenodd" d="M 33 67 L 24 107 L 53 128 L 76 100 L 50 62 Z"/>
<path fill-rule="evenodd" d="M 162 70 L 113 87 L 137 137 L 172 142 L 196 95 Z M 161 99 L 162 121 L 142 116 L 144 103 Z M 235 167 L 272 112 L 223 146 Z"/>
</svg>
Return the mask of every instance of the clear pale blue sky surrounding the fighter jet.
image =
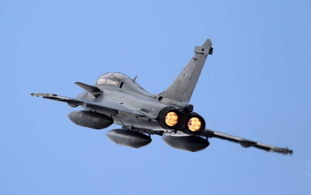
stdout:
<svg viewBox="0 0 311 195">
<path fill-rule="evenodd" d="M 311 194 L 311 3 L 1 1 L 0 194 Z M 292 157 L 216 138 L 197 153 L 159 136 L 141 149 L 73 124 L 66 103 L 122 72 L 163 91 L 210 38 L 194 111 L 210 129 L 294 150 Z"/>
</svg>

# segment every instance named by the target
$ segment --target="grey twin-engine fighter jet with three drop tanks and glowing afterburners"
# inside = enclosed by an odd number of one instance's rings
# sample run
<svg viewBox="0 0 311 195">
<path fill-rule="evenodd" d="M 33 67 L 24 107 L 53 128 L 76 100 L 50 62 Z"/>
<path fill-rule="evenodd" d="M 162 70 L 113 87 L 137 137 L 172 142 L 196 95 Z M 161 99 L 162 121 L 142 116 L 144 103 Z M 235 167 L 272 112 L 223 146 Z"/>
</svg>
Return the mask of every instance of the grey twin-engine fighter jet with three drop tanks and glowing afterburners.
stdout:
<svg viewBox="0 0 311 195">
<path fill-rule="evenodd" d="M 120 129 L 109 130 L 107 137 L 116 144 L 140 148 L 151 143 L 151 135 L 160 135 L 169 146 L 197 152 L 209 145 L 209 138 L 239 143 L 244 148 L 255 147 L 268 152 L 292 154 L 279 148 L 205 128 L 202 116 L 193 112 L 189 103 L 194 87 L 208 55 L 213 54 L 212 42 L 194 47 L 194 56 L 175 81 L 163 92 L 153 95 L 135 82 L 136 77 L 109 72 L 101 75 L 94 85 L 76 82 L 84 92 L 76 98 L 57 94 L 33 93 L 32 96 L 66 102 L 83 110 L 68 114 L 75 124 L 105 129 L 112 124 Z"/>
</svg>

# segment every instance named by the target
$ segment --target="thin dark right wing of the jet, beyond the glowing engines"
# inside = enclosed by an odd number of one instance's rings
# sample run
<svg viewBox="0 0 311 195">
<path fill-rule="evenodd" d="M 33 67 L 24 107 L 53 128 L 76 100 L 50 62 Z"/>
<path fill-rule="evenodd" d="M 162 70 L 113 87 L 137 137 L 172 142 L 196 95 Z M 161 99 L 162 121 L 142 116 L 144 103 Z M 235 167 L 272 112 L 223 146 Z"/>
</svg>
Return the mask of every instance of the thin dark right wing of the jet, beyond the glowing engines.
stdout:
<svg viewBox="0 0 311 195">
<path fill-rule="evenodd" d="M 244 148 L 255 147 L 255 148 L 258 148 L 261 150 L 265 150 L 267 152 L 276 152 L 276 153 L 280 153 L 280 154 L 284 154 L 284 155 L 293 154 L 293 151 L 289 150 L 288 148 L 278 148 L 278 147 L 274 147 L 271 145 L 259 143 L 256 141 L 247 140 L 247 139 L 244 139 L 241 137 L 229 135 L 226 133 L 217 132 L 214 130 L 205 130 L 200 135 L 208 137 L 208 138 L 216 137 L 219 139 L 224 139 L 224 140 L 232 141 L 235 143 L 239 143 Z"/>
</svg>

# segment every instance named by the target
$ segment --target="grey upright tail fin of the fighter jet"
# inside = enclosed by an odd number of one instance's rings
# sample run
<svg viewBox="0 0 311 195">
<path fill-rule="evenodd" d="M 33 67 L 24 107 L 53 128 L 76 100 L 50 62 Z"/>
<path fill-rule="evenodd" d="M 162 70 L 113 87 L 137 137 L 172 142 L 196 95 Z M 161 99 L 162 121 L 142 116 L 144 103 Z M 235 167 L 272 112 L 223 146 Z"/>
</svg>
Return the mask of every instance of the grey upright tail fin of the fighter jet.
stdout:
<svg viewBox="0 0 311 195">
<path fill-rule="evenodd" d="M 194 57 L 183 71 L 181 71 L 175 81 L 165 91 L 159 93 L 159 96 L 176 101 L 190 101 L 207 55 L 213 54 L 211 40 L 207 39 L 202 46 L 195 46 L 194 53 Z"/>
</svg>

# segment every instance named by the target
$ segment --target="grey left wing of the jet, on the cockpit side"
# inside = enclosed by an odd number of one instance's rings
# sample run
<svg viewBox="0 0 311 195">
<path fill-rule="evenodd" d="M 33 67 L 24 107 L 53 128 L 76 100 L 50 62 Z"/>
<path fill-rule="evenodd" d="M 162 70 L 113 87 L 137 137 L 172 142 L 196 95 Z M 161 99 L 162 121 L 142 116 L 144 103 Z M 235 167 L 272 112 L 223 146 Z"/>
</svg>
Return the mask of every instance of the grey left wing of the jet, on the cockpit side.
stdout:
<svg viewBox="0 0 311 195">
<path fill-rule="evenodd" d="M 111 110 L 116 110 L 117 112 L 125 112 L 129 114 L 133 114 L 135 116 L 143 116 L 138 109 L 134 107 L 126 107 L 122 104 L 117 104 L 115 102 L 110 101 L 91 101 L 86 99 L 79 99 L 79 98 L 73 98 L 73 97 L 64 97 L 64 96 L 58 96 L 57 94 L 42 94 L 42 93 L 33 93 L 32 96 L 36 97 L 42 97 L 45 99 L 52 99 L 56 101 L 62 101 L 68 103 L 71 107 L 77 107 L 82 104 L 92 105 L 99 108 L 107 108 Z"/>
</svg>

